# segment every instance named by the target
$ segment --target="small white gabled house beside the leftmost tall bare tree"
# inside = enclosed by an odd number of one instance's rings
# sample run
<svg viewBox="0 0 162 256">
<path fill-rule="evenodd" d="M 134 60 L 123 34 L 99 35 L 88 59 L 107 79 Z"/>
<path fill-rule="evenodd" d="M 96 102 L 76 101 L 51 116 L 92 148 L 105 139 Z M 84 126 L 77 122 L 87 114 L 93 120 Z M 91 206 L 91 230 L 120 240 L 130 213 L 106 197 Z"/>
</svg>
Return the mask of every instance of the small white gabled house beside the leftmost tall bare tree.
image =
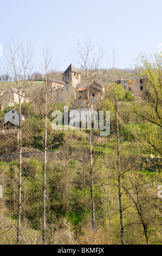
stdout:
<svg viewBox="0 0 162 256">
<path fill-rule="evenodd" d="M 25 120 L 23 114 L 21 114 L 21 124 Z M 11 124 L 14 124 L 15 126 L 19 126 L 19 115 L 15 108 L 10 109 L 8 113 L 4 115 L 4 124 L 10 122 Z"/>
</svg>

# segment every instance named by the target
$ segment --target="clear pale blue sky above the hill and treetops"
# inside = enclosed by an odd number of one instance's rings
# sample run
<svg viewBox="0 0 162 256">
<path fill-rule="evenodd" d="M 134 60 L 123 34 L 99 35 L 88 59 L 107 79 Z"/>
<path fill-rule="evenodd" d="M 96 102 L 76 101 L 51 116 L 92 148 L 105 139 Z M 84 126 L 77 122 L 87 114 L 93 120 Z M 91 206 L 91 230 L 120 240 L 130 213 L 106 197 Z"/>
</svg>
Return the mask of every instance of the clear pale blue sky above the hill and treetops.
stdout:
<svg viewBox="0 0 162 256">
<path fill-rule="evenodd" d="M 117 68 L 129 68 L 141 52 L 157 53 L 158 44 L 162 43 L 161 0 L 0 0 L 0 3 L 0 43 L 4 48 L 11 35 L 31 40 L 37 65 L 42 61 L 42 47 L 47 45 L 63 71 L 74 63 L 74 47 L 86 35 L 94 47 L 99 44 L 109 56 L 115 50 Z"/>
</svg>

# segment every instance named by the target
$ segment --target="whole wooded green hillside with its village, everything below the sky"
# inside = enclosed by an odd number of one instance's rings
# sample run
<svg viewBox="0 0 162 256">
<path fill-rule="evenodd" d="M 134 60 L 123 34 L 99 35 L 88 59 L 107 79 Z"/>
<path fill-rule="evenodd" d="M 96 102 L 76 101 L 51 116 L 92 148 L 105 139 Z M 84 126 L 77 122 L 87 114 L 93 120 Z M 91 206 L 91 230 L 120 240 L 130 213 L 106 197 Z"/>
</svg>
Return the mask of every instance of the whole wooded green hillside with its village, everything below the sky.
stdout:
<svg viewBox="0 0 162 256">
<path fill-rule="evenodd" d="M 145 70 L 138 76 L 106 72 L 86 80 L 85 70 L 70 64 L 62 74 L 29 77 L 27 90 L 23 81 L 0 83 L 0 242 L 162 242 L 161 89 Z M 56 130 L 54 111 L 62 118 Z M 101 136 L 106 111 L 110 129 Z M 20 219 L 23 228 L 12 231 Z"/>
</svg>

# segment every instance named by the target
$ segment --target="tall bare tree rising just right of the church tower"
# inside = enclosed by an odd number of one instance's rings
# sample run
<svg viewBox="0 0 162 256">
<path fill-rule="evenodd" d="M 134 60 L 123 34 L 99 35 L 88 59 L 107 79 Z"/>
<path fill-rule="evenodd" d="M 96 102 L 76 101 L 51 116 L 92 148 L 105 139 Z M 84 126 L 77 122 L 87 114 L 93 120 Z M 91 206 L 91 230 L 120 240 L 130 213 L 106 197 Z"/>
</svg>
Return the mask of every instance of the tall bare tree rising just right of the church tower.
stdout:
<svg viewBox="0 0 162 256">
<path fill-rule="evenodd" d="M 99 67 L 103 62 L 103 56 L 105 51 L 99 49 L 98 53 L 93 50 L 92 42 L 87 37 L 86 45 L 82 46 L 78 41 L 77 48 L 75 49 L 75 55 L 78 57 L 77 63 L 80 64 L 81 69 L 84 70 L 85 77 L 83 77 L 83 83 L 86 84 L 87 89 L 87 108 L 89 123 L 91 120 L 92 90 L 96 83 L 101 79 L 99 74 Z M 103 75 L 103 74 L 102 74 Z M 92 212 L 92 228 L 95 231 L 95 202 L 94 202 L 94 178 L 93 178 L 93 147 L 92 147 L 92 130 L 89 129 L 89 174 L 90 174 L 90 195 L 91 195 L 91 212 Z"/>
</svg>

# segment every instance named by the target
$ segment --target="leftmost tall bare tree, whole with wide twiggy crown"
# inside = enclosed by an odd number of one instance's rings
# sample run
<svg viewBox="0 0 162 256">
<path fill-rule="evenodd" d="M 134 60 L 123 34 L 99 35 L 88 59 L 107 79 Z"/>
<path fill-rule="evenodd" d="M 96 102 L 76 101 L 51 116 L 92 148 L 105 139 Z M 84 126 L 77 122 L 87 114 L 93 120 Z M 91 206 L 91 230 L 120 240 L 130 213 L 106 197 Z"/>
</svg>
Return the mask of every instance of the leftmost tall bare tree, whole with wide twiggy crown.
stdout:
<svg viewBox="0 0 162 256">
<path fill-rule="evenodd" d="M 32 70 L 31 59 L 33 57 L 33 48 L 30 44 L 27 47 L 23 47 L 22 41 L 8 42 L 7 53 L 5 54 L 5 62 L 3 63 L 3 69 L 8 75 L 10 80 L 14 83 L 17 89 L 18 95 L 18 109 L 17 114 L 19 117 L 19 139 L 18 139 L 18 151 L 19 151 L 19 175 L 18 175 L 18 206 L 17 206 L 17 244 L 21 243 L 21 187 L 22 187 L 22 111 L 21 104 L 25 89 L 30 86 L 32 81 L 29 81 L 29 77 Z M 23 79 L 22 79 L 23 78 Z M 22 83 L 20 84 L 20 80 Z"/>
</svg>

